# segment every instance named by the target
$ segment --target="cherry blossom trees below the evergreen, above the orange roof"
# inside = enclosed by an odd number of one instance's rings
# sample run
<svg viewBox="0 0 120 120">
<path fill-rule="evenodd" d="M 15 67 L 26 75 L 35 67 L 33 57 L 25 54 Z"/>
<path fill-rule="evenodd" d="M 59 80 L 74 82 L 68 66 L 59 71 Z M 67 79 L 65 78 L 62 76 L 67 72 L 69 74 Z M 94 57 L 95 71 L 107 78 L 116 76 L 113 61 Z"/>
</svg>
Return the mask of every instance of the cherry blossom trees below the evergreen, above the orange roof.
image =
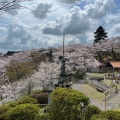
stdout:
<svg viewBox="0 0 120 120">
<path fill-rule="evenodd" d="M 113 38 L 112 40 L 104 40 L 94 44 L 92 47 L 94 55 L 98 55 L 99 60 L 112 56 L 112 59 L 120 59 L 120 40 Z"/>
</svg>

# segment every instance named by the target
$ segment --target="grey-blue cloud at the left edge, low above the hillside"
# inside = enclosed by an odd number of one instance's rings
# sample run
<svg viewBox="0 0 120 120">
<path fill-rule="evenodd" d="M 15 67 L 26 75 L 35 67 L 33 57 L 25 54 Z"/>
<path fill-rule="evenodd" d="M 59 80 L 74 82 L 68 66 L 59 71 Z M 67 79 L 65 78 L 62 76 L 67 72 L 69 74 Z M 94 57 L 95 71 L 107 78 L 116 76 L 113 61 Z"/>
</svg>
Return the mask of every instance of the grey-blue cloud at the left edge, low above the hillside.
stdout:
<svg viewBox="0 0 120 120">
<path fill-rule="evenodd" d="M 6 29 L 8 34 L 5 34 L 4 41 L 0 44 L 1 48 L 20 49 L 26 47 L 31 36 L 27 34 L 25 27 L 19 25 L 19 23 L 14 23 L 10 24 Z"/>
</svg>

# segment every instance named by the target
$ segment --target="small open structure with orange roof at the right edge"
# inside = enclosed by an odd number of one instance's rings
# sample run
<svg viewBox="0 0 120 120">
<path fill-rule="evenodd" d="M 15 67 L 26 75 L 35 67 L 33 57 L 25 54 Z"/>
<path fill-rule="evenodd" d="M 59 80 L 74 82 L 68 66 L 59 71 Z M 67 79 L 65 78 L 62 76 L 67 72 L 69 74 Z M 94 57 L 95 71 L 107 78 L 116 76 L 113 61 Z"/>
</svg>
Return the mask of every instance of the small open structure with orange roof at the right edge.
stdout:
<svg viewBox="0 0 120 120">
<path fill-rule="evenodd" d="M 115 79 L 115 72 L 120 73 L 120 61 L 109 61 L 105 66 L 105 77 L 108 75 L 109 78 Z"/>
</svg>

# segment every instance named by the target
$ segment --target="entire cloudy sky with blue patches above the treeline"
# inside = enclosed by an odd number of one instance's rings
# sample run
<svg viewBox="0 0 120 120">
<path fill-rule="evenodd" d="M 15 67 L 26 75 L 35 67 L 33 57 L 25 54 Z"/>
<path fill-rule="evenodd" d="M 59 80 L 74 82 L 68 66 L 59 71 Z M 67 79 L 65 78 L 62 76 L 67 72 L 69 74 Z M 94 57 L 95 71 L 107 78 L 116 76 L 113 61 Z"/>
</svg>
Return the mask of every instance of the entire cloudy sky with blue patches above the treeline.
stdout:
<svg viewBox="0 0 120 120">
<path fill-rule="evenodd" d="M 120 0 L 30 0 L 19 5 L 21 9 L 0 11 L 0 52 L 58 47 L 63 34 L 65 44 L 92 44 L 99 26 L 109 38 L 120 36 Z"/>
</svg>

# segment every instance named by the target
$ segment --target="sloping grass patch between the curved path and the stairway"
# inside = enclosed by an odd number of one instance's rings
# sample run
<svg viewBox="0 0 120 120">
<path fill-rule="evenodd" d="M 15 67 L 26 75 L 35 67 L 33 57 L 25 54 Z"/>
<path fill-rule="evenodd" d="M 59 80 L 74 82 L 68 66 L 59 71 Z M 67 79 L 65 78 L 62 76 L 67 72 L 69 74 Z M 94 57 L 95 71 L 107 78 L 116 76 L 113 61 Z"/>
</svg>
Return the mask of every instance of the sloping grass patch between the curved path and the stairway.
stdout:
<svg viewBox="0 0 120 120">
<path fill-rule="evenodd" d="M 105 97 L 103 93 L 98 92 L 95 88 L 91 87 L 88 84 L 84 84 L 83 89 L 86 95 L 88 95 L 96 101 L 102 101 Z"/>
</svg>

